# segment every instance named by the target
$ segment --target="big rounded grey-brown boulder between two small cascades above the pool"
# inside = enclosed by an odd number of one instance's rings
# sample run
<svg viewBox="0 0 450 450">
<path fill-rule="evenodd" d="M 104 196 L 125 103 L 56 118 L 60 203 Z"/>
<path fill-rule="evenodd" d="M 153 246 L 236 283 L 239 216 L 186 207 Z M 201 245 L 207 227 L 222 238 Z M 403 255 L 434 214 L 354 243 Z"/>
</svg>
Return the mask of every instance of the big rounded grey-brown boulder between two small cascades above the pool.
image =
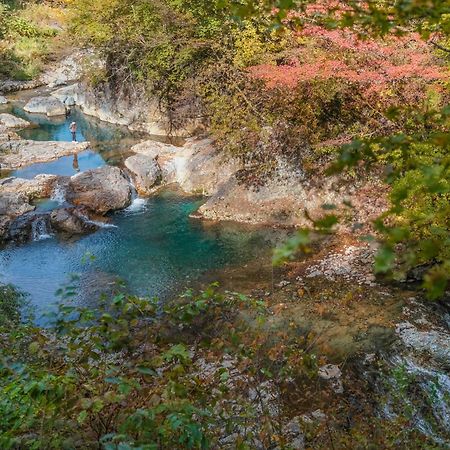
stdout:
<svg viewBox="0 0 450 450">
<path fill-rule="evenodd" d="M 66 198 L 76 206 L 106 214 L 130 205 L 131 186 L 119 168 L 105 166 L 71 177 Z"/>
</svg>

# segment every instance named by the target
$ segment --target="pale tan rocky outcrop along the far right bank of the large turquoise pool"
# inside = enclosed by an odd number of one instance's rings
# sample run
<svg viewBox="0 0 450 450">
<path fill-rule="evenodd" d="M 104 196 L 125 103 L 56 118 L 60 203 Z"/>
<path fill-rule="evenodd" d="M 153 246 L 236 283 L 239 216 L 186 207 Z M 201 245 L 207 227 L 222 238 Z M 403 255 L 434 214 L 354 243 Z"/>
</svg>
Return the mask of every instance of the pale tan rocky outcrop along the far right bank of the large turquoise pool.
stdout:
<svg viewBox="0 0 450 450">
<path fill-rule="evenodd" d="M 325 203 L 340 203 L 344 192 L 327 185 L 313 185 L 298 168 L 280 161 L 275 175 L 258 188 L 236 177 L 239 161 L 226 158 L 210 140 L 188 140 L 183 147 L 144 141 L 132 152 L 156 160 L 161 168 L 161 184 L 177 183 L 185 192 L 210 198 L 198 216 L 253 224 L 299 226 L 323 214 Z"/>
</svg>

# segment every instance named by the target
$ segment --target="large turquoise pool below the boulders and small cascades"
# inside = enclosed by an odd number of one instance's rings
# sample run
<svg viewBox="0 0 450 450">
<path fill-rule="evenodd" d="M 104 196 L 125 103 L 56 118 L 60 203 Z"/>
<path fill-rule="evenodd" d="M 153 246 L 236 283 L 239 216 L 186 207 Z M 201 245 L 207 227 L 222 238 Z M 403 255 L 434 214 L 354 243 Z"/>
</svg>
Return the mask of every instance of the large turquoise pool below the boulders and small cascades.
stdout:
<svg viewBox="0 0 450 450">
<path fill-rule="evenodd" d="M 77 303 L 92 306 L 117 278 L 134 293 L 165 298 L 209 270 L 269 260 L 273 244 L 263 230 L 190 219 L 200 204 L 166 192 L 137 211 L 114 214 L 114 227 L 81 239 L 11 246 L 0 252 L 0 281 L 29 293 L 42 313 L 71 274 L 80 275 Z"/>
</svg>

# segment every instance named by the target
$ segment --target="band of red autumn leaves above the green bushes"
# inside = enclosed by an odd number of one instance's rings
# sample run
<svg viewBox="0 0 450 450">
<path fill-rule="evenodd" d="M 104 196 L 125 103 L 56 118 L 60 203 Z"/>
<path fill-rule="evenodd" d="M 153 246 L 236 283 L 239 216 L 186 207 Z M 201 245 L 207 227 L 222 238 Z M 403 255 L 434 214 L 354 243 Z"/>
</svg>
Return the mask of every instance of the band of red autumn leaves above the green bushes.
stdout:
<svg viewBox="0 0 450 450">
<path fill-rule="evenodd" d="M 361 40 L 349 31 L 308 25 L 298 35 L 310 43 L 296 50 L 297 58 L 289 65 L 254 66 L 249 69 L 250 76 L 264 80 L 268 88 L 294 88 L 302 81 L 334 78 L 361 84 L 367 93 L 384 91 L 401 80 L 449 77 L 444 67 L 434 63 L 432 52 L 416 33 L 386 41 Z M 320 50 L 319 56 L 311 56 L 312 48 Z"/>
</svg>

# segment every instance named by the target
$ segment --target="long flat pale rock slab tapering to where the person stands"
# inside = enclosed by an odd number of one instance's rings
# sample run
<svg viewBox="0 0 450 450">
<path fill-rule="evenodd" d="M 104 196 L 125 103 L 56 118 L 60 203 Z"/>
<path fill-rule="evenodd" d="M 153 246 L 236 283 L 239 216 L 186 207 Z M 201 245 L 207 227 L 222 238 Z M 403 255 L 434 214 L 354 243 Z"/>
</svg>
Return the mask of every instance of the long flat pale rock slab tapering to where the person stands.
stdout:
<svg viewBox="0 0 450 450">
<path fill-rule="evenodd" d="M 19 169 L 30 164 L 53 161 L 74 155 L 89 147 L 89 142 L 28 141 L 13 139 L 0 141 L 0 168 Z"/>
</svg>

